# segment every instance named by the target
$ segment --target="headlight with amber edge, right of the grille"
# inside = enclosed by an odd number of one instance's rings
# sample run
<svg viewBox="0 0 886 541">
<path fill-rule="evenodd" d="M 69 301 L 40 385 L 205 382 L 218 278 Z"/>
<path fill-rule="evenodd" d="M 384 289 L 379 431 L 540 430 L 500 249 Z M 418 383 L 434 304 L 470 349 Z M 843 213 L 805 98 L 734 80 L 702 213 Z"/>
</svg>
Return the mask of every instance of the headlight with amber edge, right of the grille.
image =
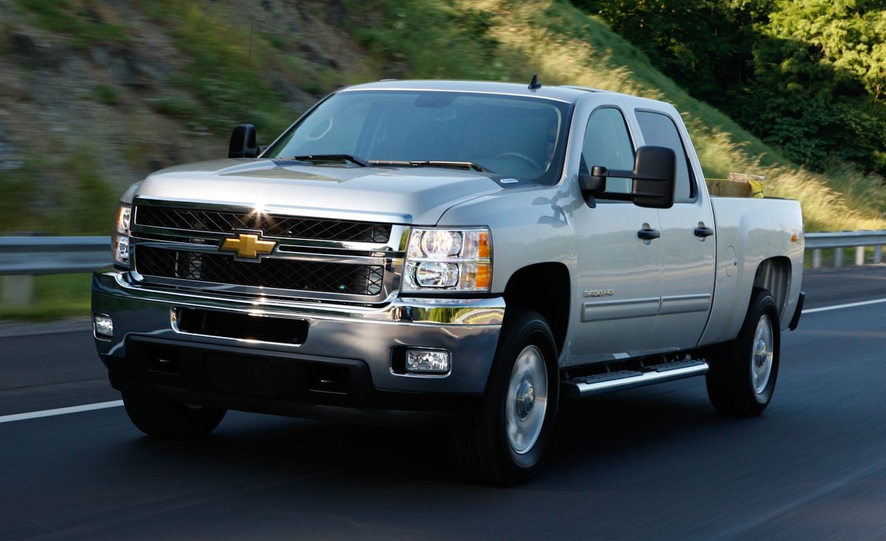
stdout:
<svg viewBox="0 0 886 541">
<path fill-rule="evenodd" d="M 413 228 L 403 290 L 488 291 L 492 283 L 489 229 Z"/>
</svg>

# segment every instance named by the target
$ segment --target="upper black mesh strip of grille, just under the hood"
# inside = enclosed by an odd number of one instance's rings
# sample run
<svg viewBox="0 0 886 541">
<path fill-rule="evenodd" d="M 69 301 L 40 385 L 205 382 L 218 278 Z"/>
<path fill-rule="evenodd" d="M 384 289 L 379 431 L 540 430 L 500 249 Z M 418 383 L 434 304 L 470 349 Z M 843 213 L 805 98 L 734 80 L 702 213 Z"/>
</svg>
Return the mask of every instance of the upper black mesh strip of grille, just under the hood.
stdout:
<svg viewBox="0 0 886 541">
<path fill-rule="evenodd" d="M 234 233 L 250 229 L 260 230 L 265 236 L 278 238 L 323 239 L 354 243 L 385 243 L 391 237 L 390 224 L 147 205 L 138 207 L 136 224 L 217 233 Z"/>
</svg>

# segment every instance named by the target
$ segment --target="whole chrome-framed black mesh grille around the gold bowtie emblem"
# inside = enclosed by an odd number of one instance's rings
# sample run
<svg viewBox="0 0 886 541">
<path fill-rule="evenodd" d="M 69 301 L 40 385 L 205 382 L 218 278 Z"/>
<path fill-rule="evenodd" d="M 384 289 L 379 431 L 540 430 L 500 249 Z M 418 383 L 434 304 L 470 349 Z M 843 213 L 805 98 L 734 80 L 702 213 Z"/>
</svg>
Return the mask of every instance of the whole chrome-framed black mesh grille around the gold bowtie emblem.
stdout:
<svg viewBox="0 0 886 541">
<path fill-rule="evenodd" d="M 233 205 L 136 198 L 133 278 L 214 293 L 381 303 L 400 286 L 408 226 L 255 213 Z M 258 235 L 260 259 L 221 251 L 225 239 Z"/>
</svg>

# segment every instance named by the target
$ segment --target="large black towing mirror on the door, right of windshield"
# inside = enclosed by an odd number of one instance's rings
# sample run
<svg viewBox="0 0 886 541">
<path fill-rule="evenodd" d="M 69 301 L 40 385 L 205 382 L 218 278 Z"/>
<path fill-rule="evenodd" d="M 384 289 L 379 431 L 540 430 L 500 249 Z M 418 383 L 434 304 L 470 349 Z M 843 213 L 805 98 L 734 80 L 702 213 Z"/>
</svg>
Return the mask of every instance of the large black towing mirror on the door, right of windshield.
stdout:
<svg viewBox="0 0 886 541">
<path fill-rule="evenodd" d="M 671 149 L 641 146 L 633 158 L 633 171 L 594 166 L 591 174 L 579 176 L 579 183 L 586 196 L 633 201 L 634 205 L 649 208 L 671 208 L 676 171 L 677 157 Z M 631 193 L 604 191 L 608 177 L 633 179 Z"/>
</svg>

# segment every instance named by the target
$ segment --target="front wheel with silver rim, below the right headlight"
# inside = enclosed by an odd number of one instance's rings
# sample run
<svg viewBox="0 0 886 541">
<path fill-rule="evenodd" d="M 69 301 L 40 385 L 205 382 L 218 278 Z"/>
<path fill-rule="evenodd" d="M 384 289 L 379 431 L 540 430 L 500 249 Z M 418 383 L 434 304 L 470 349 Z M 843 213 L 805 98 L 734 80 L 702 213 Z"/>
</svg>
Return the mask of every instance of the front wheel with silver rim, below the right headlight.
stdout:
<svg viewBox="0 0 886 541">
<path fill-rule="evenodd" d="M 532 475 L 554 430 L 559 390 L 548 322 L 539 313 L 510 309 L 481 406 L 455 437 L 463 473 L 498 484 L 518 483 Z"/>
</svg>

